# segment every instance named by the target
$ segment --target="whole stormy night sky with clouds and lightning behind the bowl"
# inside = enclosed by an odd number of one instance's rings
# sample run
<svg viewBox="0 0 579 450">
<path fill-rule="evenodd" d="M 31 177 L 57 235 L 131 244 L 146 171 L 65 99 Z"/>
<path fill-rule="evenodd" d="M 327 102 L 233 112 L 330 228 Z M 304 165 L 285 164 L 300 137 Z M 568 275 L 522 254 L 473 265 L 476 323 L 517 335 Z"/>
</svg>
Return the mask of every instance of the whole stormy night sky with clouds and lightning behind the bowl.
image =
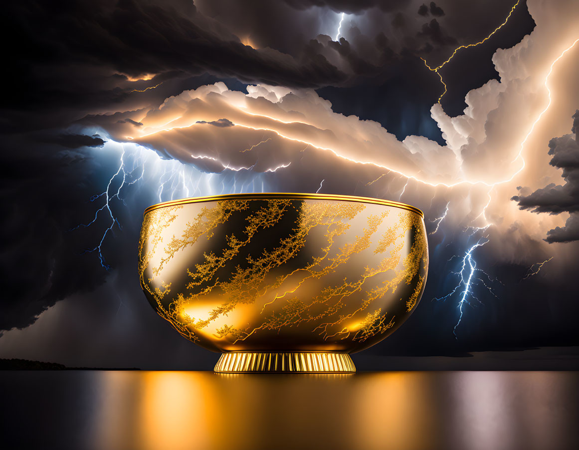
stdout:
<svg viewBox="0 0 579 450">
<path fill-rule="evenodd" d="M 4 5 L 0 358 L 211 368 L 141 291 L 142 212 L 316 191 L 425 214 L 422 301 L 365 357 L 577 355 L 579 8 L 515 2 Z"/>
</svg>

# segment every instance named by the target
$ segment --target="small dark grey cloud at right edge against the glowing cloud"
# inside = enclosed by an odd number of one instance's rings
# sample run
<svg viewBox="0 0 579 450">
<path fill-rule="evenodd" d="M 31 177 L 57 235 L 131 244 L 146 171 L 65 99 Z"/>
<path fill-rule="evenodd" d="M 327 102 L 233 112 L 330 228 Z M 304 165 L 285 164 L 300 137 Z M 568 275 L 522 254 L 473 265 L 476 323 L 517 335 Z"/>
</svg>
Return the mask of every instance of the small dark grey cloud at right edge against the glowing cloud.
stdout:
<svg viewBox="0 0 579 450">
<path fill-rule="evenodd" d="M 577 133 L 579 110 L 573 115 L 572 131 Z M 547 242 L 569 242 L 579 240 L 579 145 L 577 134 L 567 134 L 549 141 L 549 164 L 563 169 L 564 185 L 550 183 L 528 196 L 514 196 L 521 209 L 536 213 L 571 213 L 565 227 L 556 227 L 547 233 Z"/>
</svg>

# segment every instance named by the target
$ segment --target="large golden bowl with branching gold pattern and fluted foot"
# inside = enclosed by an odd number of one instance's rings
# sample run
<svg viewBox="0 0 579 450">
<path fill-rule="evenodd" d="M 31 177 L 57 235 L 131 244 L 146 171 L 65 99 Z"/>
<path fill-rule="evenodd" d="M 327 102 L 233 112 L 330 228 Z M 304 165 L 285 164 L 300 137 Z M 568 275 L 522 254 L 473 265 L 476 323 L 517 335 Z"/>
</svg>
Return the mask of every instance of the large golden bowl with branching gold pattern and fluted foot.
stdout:
<svg viewBox="0 0 579 450">
<path fill-rule="evenodd" d="M 354 372 L 349 353 L 411 315 L 428 268 L 423 213 L 376 198 L 231 194 L 145 210 L 152 307 L 216 372 Z"/>
</svg>

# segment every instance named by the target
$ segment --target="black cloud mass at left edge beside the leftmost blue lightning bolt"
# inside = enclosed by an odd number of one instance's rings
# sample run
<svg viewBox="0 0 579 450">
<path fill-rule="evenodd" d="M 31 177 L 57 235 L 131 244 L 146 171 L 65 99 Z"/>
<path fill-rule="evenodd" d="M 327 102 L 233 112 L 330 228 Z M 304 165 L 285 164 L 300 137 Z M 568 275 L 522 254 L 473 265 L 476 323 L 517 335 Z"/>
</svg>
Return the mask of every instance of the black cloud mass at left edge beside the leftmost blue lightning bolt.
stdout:
<svg viewBox="0 0 579 450">
<path fill-rule="evenodd" d="M 21 149 L 23 144 L 21 139 L 3 139 L 7 148 Z M 0 270 L 6 274 L 0 330 L 9 330 L 28 326 L 70 294 L 89 292 L 107 272 L 81 255 L 94 242 L 83 241 L 83 233 L 66 232 L 94 215 L 86 191 L 97 193 L 102 186 L 90 175 L 96 172 L 91 158 L 83 151 L 45 144 L 4 154 L 2 164 L 9 170 L 0 181 L 0 233 L 5 238 Z"/>
</svg>

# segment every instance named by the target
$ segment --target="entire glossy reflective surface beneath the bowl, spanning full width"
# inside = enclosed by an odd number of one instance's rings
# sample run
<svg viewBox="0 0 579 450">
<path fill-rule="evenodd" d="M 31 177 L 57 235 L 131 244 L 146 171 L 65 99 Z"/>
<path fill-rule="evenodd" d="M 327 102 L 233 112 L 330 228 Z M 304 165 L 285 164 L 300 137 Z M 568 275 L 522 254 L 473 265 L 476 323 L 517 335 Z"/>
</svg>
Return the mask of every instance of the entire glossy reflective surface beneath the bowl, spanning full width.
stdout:
<svg viewBox="0 0 579 450">
<path fill-rule="evenodd" d="M 3 371 L 3 448 L 575 449 L 576 372 Z"/>
</svg>

